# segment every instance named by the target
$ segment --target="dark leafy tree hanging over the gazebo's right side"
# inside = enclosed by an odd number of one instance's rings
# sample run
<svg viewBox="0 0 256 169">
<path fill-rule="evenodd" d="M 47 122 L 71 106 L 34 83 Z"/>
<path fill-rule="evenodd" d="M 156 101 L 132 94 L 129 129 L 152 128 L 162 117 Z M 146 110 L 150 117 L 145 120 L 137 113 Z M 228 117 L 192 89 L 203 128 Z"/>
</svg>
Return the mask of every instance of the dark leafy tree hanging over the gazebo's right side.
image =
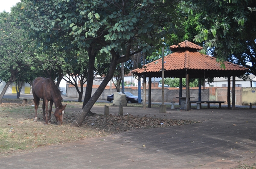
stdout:
<svg viewBox="0 0 256 169">
<path fill-rule="evenodd" d="M 256 75 L 256 1 L 188 0 L 184 11 L 193 17 L 200 14 L 201 32 L 196 42 L 217 57 L 249 68 Z"/>
</svg>

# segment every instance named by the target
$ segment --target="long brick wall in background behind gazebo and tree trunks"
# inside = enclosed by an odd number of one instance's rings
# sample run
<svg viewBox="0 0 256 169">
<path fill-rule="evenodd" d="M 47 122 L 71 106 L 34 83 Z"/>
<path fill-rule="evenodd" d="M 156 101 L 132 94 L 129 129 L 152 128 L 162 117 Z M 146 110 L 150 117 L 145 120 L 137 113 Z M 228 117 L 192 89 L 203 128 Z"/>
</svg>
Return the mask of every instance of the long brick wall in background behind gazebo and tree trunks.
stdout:
<svg viewBox="0 0 256 169">
<path fill-rule="evenodd" d="M 92 89 L 92 95 L 95 93 L 95 91 L 98 89 L 99 85 L 93 85 Z M 84 93 L 83 93 L 83 98 L 84 94 L 86 91 L 86 85 L 84 85 Z M 138 87 L 125 87 L 126 92 L 130 92 L 135 96 L 138 96 Z M 193 100 L 198 100 L 198 87 L 191 87 L 190 88 L 190 97 L 195 97 Z M 110 93 L 110 87 L 107 86 L 105 90 L 102 92 L 101 96 L 99 97 L 100 100 L 106 100 L 107 96 L 110 94 L 113 94 L 116 92 L 116 88 L 112 86 L 112 93 Z M 186 95 L 186 90 L 183 88 L 182 90 L 182 96 L 185 97 Z M 68 85 L 67 86 L 67 97 L 75 97 L 78 98 L 78 93 L 76 92 L 76 88 L 73 85 Z M 169 87 L 169 88 L 164 88 L 164 100 L 166 102 L 170 101 L 176 101 L 178 102 L 179 99 L 176 98 L 179 97 L 179 88 L 174 88 L 174 87 Z M 209 88 L 202 88 L 202 101 L 208 101 L 209 100 Z M 141 87 L 141 98 L 143 98 L 143 87 Z M 148 100 L 148 88 L 146 91 L 146 100 Z M 162 88 L 161 87 L 152 87 L 151 88 L 151 101 L 162 101 Z"/>
</svg>

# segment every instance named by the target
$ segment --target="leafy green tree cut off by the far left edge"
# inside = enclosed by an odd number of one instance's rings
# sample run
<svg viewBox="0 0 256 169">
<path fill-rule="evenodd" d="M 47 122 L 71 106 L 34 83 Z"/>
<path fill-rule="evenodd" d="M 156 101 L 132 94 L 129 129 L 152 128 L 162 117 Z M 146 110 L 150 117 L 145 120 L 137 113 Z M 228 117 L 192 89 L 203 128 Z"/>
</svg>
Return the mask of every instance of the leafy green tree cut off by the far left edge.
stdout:
<svg viewBox="0 0 256 169">
<path fill-rule="evenodd" d="M 6 12 L 0 13 L 0 79 L 6 82 L 0 94 L 0 104 L 8 86 L 30 67 L 30 54 L 23 49 L 24 41 L 26 39 L 15 17 Z"/>
</svg>

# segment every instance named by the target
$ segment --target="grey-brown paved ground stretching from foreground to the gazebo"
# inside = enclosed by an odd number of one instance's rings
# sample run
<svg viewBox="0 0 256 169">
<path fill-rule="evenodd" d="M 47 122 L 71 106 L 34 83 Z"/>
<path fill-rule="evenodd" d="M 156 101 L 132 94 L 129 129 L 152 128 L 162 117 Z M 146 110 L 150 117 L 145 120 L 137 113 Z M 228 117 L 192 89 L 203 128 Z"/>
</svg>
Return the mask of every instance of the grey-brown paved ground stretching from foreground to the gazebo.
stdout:
<svg viewBox="0 0 256 169">
<path fill-rule="evenodd" d="M 102 113 L 104 107 L 93 107 Z M 118 107 L 110 107 L 110 113 Z M 256 163 L 256 109 L 143 110 L 124 114 L 202 121 L 123 132 L 0 158 L 1 169 L 230 169 Z M 143 146 L 145 145 L 145 146 Z"/>
</svg>

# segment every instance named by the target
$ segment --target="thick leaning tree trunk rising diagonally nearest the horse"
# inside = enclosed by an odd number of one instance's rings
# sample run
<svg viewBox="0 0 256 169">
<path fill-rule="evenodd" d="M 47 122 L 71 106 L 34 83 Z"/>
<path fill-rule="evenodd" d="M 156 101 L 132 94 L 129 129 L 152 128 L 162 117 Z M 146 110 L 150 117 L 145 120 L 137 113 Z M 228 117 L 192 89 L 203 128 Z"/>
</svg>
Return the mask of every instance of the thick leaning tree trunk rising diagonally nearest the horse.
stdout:
<svg viewBox="0 0 256 169">
<path fill-rule="evenodd" d="M 102 94 L 102 92 L 104 91 L 105 87 L 108 85 L 108 82 L 111 80 L 111 78 L 112 78 L 112 76 L 114 74 L 116 65 L 117 64 L 112 60 L 111 61 L 111 67 L 109 69 L 109 72 L 108 72 L 107 76 L 105 76 L 105 79 L 99 85 L 99 87 L 96 90 L 96 92 L 89 99 L 89 101 L 87 101 L 87 103 L 83 106 L 82 112 L 79 113 L 76 116 L 76 118 L 75 118 L 76 120 L 73 121 L 71 126 L 79 127 L 82 124 L 82 122 L 84 121 L 84 118 L 87 116 L 87 114 L 90 112 L 91 108 L 93 107 L 93 104 L 99 99 L 99 96 Z"/>
</svg>

